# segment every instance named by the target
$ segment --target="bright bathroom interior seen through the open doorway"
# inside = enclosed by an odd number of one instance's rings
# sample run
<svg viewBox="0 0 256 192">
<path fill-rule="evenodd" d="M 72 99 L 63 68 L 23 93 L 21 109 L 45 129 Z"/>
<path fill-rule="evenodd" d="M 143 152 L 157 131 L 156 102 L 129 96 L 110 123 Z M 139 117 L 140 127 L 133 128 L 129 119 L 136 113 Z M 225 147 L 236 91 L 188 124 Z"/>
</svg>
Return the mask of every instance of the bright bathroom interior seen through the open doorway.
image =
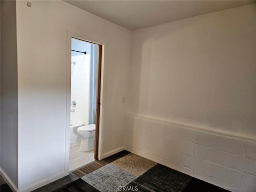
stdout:
<svg viewBox="0 0 256 192">
<path fill-rule="evenodd" d="M 94 161 L 98 45 L 71 39 L 70 164 Z"/>
</svg>

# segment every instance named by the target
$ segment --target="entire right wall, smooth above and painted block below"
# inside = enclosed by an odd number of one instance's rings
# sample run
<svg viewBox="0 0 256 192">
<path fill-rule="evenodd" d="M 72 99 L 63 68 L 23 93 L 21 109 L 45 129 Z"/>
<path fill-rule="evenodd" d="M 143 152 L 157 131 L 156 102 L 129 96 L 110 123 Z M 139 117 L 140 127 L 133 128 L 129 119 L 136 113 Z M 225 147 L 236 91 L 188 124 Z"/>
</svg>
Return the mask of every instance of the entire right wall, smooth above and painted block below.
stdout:
<svg viewBox="0 0 256 192">
<path fill-rule="evenodd" d="M 126 150 L 256 190 L 255 13 L 250 4 L 133 31 Z"/>
</svg>

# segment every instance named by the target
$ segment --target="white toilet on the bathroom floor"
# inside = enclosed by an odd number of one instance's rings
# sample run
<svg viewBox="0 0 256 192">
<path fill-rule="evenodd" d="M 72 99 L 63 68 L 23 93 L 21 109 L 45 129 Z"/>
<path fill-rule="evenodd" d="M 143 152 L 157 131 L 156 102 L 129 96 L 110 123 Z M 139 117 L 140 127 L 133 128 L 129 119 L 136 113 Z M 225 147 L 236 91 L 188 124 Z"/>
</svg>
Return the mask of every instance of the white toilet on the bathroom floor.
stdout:
<svg viewBox="0 0 256 192">
<path fill-rule="evenodd" d="M 94 149 L 95 124 L 80 126 L 77 134 L 82 138 L 79 151 L 86 152 Z"/>
</svg>

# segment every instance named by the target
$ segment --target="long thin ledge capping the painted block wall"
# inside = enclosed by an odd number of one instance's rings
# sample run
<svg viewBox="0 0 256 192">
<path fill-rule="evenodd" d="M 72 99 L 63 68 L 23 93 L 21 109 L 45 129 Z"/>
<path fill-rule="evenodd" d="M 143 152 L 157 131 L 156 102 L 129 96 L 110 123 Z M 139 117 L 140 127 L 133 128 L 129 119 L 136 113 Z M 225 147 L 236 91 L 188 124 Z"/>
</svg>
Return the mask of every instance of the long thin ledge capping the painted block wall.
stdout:
<svg viewBox="0 0 256 192">
<path fill-rule="evenodd" d="M 204 132 L 206 134 L 224 136 L 224 137 L 234 138 L 234 139 L 243 140 L 243 141 L 247 141 L 247 142 L 256 142 L 256 137 L 251 137 L 251 136 L 244 135 L 244 134 L 237 134 L 237 133 L 231 132 L 231 131 L 224 131 L 224 130 L 214 129 L 214 128 L 198 127 L 198 126 L 193 126 L 193 125 L 184 124 L 184 123 L 180 123 L 180 122 L 172 122 L 172 121 L 169 121 L 169 120 L 164 120 L 164 119 L 155 118 L 155 117 L 142 116 L 140 114 L 129 113 L 129 114 L 126 114 L 126 115 L 127 116 L 136 116 L 138 118 L 142 118 L 142 119 L 145 119 L 145 120 L 162 122 L 162 123 L 170 124 L 172 126 L 177 126 L 177 127 L 181 127 L 181 128 L 185 128 L 185 129 Z"/>
</svg>

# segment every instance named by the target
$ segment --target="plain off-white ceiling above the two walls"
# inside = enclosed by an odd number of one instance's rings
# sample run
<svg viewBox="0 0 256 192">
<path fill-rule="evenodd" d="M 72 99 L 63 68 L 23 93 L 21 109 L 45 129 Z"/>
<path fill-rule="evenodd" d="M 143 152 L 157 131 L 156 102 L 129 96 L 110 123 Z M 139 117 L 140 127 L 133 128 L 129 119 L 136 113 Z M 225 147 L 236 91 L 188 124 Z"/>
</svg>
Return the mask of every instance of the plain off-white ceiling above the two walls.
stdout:
<svg viewBox="0 0 256 192">
<path fill-rule="evenodd" d="M 136 30 L 256 1 L 65 0 L 110 22 Z"/>
</svg>

